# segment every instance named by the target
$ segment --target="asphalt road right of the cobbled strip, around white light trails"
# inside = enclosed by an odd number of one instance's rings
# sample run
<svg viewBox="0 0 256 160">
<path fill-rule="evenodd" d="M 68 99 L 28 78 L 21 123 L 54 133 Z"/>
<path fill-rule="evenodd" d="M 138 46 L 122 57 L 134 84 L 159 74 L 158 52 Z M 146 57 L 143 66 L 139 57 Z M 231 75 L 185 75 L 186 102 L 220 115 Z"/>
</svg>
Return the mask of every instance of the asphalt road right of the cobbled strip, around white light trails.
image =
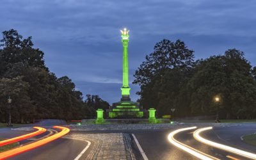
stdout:
<svg viewBox="0 0 256 160">
<path fill-rule="evenodd" d="M 173 130 L 170 129 L 162 131 L 135 132 L 135 136 L 140 142 L 141 148 L 143 148 L 143 151 L 147 155 L 148 159 L 197 159 L 179 148 L 174 147 L 168 141 L 167 136 L 172 131 Z M 255 131 L 255 124 L 244 124 L 243 126 L 239 127 L 216 127 L 212 131 L 205 131 L 202 136 L 208 140 L 216 141 L 217 143 L 255 153 L 256 147 L 247 145 L 241 141 L 240 138 L 244 134 L 252 134 Z M 209 147 L 208 145 L 204 145 L 203 143 L 196 141 L 193 138 L 193 131 L 180 132 L 177 134 L 177 136 L 175 136 L 175 139 L 195 148 L 196 150 L 200 150 L 205 154 L 209 154 L 219 159 L 228 159 L 226 156 L 236 157 L 237 159 L 246 159 L 217 148 Z"/>
</svg>

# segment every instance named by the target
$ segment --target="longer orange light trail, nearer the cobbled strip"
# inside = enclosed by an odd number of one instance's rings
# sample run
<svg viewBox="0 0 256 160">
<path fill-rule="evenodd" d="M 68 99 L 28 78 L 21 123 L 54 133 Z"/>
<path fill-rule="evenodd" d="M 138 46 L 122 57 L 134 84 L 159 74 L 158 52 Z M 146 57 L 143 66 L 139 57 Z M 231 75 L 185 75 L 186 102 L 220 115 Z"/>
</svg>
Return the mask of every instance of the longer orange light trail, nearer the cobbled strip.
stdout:
<svg viewBox="0 0 256 160">
<path fill-rule="evenodd" d="M 40 147 L 40 146 L 45 145 L 51 141 L 61 138 L 61 136 L 64 136 L 65 134 L 67 134 L 70 131 L 70 129 L 68 129 L 66 127 L 54 126 L 54 128 L 61 129 L 61 131 L 58 132 L 57 134 L 54 134 L 52 136 L 45 138 L 44 140 L 35 141 L 34 143 L 30 143 L 30 144 L 24 145 L 22 147 L 13 148 L 12 150 L 7 150 L 5 152 L 1 152 L 0 159 L 7 159 L 7 158 L 13 157 L 17 154 L 21 154 L 23 152 L 27 152 L 34 148 Z"/>
</svg>

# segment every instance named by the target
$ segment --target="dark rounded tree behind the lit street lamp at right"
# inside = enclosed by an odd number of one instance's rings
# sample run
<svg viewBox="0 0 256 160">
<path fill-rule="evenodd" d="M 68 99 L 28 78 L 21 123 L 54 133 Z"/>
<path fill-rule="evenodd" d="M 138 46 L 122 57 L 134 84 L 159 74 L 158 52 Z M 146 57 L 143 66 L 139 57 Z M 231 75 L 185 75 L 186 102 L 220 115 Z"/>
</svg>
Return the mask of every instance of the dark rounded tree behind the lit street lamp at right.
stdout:
<svg viewBox="0 0 256 160">
<path fill-rule="evenodd" d="M 195 67 L 189 80 L 190 107 L 193 114 L 216 113 L 213 98 L 221 97 L 220 111 L 225 118 L 252 118 L 256 85 L 252 67 L 243 52 L 230 49 L 223 56 L 212 56 Z"/>
</svg>

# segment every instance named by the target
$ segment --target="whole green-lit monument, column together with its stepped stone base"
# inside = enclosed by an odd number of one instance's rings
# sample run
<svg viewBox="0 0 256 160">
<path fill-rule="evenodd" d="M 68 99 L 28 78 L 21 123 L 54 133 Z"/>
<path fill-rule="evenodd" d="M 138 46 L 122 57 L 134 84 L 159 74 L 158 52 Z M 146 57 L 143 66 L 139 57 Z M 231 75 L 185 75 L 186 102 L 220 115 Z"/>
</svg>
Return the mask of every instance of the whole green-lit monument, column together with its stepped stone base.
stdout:
<svg viewBox="0 0 256 160">
<path fill-rule="evenodd" d="M 143 117 L 143 109 L 140 103 L 132 102 L 130 98 L 129 87 L 129 67 L 128 67 L 128 42 L 129 31 L 125 28 L 122 33 L 123 44 L 123 86 L 121 88 L 122 98 L 119 102 L 113 103 L 108 109 L 109 118 L 141 118 Z"/>
</svg>

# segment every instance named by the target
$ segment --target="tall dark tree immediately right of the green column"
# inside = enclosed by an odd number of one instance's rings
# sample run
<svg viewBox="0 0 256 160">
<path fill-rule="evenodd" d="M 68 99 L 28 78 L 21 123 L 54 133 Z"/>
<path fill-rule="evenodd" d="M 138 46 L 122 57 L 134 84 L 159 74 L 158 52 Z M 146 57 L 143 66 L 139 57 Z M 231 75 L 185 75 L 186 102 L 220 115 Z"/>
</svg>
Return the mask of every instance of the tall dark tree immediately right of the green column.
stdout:
<svg viewBox="0 0 256 160">
<path fill-rule="evenodd" d="M 171 108 L 178 108 L 175 99 L 189 77 L 193 58 L 193 51 L 181 40 L 158 42 L 134 74 L 133 83 L 140 85 L 138 94 L 143 107 L 156 108 L 159 115 L 170 114 Z"/>
</svg>

